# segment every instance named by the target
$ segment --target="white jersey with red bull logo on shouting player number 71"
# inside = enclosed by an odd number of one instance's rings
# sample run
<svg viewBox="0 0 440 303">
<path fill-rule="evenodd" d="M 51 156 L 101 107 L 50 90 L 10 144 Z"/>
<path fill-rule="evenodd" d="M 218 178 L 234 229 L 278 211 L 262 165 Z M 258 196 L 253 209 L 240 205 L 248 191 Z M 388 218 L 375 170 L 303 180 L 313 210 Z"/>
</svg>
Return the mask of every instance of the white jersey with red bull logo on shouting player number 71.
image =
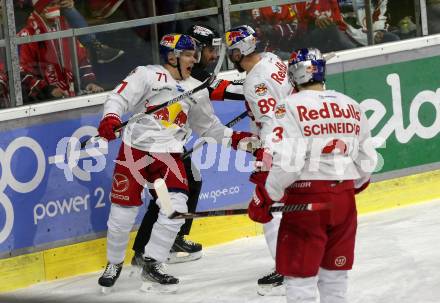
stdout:
<svg viewBox="0 0 440 303">
<path fill-rule="evenodd" d="M 144 112 L 200 84 L 192 77 L 175 80 L 161 65 L 139 66 L 109 94 L 104 116 Z M 215 116 L 207 89 L 128 123 L 122 141 L 144 151 L 181 153 L 191 130 L 201 137 L 212 137 L 218 143 L 232 135 L 232 129 Z"/>
</svg>

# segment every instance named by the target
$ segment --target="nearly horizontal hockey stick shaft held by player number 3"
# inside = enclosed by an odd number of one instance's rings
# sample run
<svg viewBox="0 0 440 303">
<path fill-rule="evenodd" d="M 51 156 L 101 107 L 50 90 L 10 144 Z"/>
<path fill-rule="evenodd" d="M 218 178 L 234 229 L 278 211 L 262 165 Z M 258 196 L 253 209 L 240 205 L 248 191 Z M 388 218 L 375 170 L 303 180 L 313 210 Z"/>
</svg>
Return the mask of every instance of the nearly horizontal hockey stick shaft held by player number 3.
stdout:
<svg viewBox="0 0 440 303">
<path fill-rule="evenodd" d="M 299 212 L 299 211 L 319 211 L 330 209 L 329 203 L 304 203 L 304 204 L 290 204 L 284 206 L 274 206 L 271 207 L 271 212 Z M 221 209 L 221 210 L 210 210 L 201 211 L 195 213 L 179 213 L 177 211 L 173 212 L 168 218 L 170 219 L 194 219 L 194 218 L 205 218 L 205 217 L 219 217 L 219 216 L 234 216 L 234 215 L 244 215 L 247 214 L 247 208 L 239 209 Z"/>
</svg>

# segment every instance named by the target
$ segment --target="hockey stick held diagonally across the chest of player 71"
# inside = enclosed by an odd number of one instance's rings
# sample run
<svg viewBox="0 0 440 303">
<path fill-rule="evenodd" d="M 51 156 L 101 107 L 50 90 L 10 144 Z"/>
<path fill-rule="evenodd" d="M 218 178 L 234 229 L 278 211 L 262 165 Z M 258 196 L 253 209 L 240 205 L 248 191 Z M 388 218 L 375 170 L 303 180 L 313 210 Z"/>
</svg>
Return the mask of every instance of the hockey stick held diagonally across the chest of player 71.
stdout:
<svg viewBox="0 0 440 303">
<path fill-rule="evenodd" d="M 160 109 L 162 109 L 164 107 L 167 107 L 167 106 L 170 106 L 170 105 L 172 105 L 174 103 L 182 101 L 183 99 L 185 99 L 185 98 L 195 94 L 196 92 L 201 91 L 201 90 L 207 88 L 209 85 L 211 85 L 211 83 L 217 77 L 217 74 L 220 72 L 220 68 L 222 67 L 223 60 L 224 60 L 224 57 L 225 57 L 225 52 L 226 52 L 226 48 L 225 48 L 224 44 L 222 44 L 222 47 L 220 49 L 219 60 L 217 62 L 217 65 L 215 66 L 214 72 L 212 73 L 212 75 L 209 78 L 207 78 L 205 81 L 203 81 L 202 84 L 200 84 L 199 86 L 197 86 L 197 87 L 195 87 L 193 89 L 187 90 L 183 94 L 180 94 L 177 97 L 174 97 L 173 99 L 171 99 L 171 100 L 169 100 L 167 102 L 164 102 L 164 103 L 162 103 L 162 104 L 160 104 L 160 105 L 158 105 L 158 106 L 156 106 L 154 108 L 151 108 L 149 110 L 146 110 L 144 112 L 140 112 L 140 113 L 137 113 L 137 114 L 131 116 L 130 119 L 128 119 L 127 121 L 123 122 L 119 127 L 115 128 L 114 132 L 116 134 L 118 134 L 121 131 L 121 129 L 124 128 L 128 123 L 137 122 L 137 121 L 141 120 L 146 115 L 150 115 L 150 114 L 152 114 L 152 113 L 154 113 L 154 112 L 156 112 L 156 111 L 158 111 L 158 110 L 160 110 Z M 96 135 L 94 137 L 91 137 L 91 138 L 88 138 L 87 140 L 82 141 L 81 145 L 80 145 L 80 149 L 83 149 L 88 143 L 92 143 L 92 144 L 96 143 L 100 138 L 101 137 L 99 135 Z"/>
</svg>

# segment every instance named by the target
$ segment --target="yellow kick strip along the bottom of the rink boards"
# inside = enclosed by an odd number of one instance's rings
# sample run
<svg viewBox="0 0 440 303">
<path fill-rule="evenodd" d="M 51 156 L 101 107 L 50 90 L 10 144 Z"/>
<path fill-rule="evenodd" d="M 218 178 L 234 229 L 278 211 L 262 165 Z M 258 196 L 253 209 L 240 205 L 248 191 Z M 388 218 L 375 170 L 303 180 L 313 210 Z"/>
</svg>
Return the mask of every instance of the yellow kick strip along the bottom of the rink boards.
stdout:
<svg viewBox="0 0 440 303">
<path fill-rule="evenodd" d="M 359 214 L 365 214 L 439 198 L 440 171 L 433 171 L 373 183 L 357 196 L 357 204 Z M 208 247 L 261 233 L 262 225 L 250 221 L 246 215 L 239 215 L 194 220 L 189 238 Z M 135 232 L 130 235 L 126 265 L 133 256 L 131 247 L 135 235 Z M 0 292 L 100 271 L 105 264 L 105 238 L 1 259 Z"/>
</svg>

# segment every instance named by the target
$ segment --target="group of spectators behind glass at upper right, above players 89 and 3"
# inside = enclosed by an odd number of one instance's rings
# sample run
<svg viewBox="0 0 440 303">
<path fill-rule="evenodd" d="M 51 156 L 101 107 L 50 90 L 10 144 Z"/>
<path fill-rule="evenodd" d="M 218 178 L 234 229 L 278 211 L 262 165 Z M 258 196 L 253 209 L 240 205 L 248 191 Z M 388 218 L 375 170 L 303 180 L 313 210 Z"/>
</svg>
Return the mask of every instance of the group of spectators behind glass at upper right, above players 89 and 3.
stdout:
<svg viewBox="0 0 440 303">
<path fill-rule="evenodd" d="M 364 0 L 311 0 L 253 9 L 263 50 L 285 57 L 292 48 L 317 47 L 323 52 L 368 45 Z M 372 1 L 374 43 L 399 40 L 389 31 L 387 0 Z"/>
</svg>

